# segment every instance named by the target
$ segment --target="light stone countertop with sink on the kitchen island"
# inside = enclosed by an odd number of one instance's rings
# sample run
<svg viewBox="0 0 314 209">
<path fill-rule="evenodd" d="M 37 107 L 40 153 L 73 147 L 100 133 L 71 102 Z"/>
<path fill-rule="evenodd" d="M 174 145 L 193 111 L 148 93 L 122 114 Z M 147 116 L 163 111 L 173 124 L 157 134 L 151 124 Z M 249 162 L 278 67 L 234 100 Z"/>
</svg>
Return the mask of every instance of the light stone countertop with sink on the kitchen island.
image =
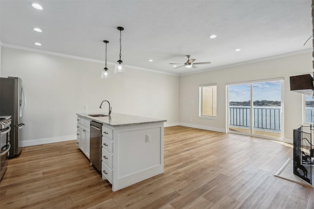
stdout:
<svg viewBox="0 0 314 209">
<path fill-rule="evenodd" d="M 105 113 L 78 113 L 77 115 L 87 120 L 93 120 L 95 122 L 103 123 L 104 125 L 109 125 L 113 127 L 167 121 L 164 119 L 142 117 L 142 116 L 131 116 L 131 115 L 120 114 L 120 113 L 111 113 L 110 116 L 103 116 L 103 117 L 88 116 L 88 115 L 93 115 L 93 114 L 107 115 Z"/>
</svg>

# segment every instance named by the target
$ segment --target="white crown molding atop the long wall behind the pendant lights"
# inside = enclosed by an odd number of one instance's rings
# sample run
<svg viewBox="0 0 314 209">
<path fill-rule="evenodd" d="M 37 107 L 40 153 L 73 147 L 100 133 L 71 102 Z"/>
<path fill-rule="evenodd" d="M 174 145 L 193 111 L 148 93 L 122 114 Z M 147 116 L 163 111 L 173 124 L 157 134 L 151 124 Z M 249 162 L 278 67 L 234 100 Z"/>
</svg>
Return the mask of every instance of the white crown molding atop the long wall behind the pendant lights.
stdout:
<svg viewBox="0 0 314 209">
<path fill-rule="evenodd" d="M 94 63 L 105 64 L 105 62 L 102 61 L 102 60 L 95 60 L 95 59 L 90 59 L 90 58 L 85 58 L 85 57 L 78 57 L 78 56 L 73 56 L 73 55 L 68 55 L 68 54 L 56 53 L 56 52 L 52 52 L 52 51 L 45 51 L 45 50 L 41 50 L 41 49 L 28 48 L 28 47 L 25 47 L 25 46 L 16 46 L 16 45 L 11 45 L 11 44 L 2 44 L 2 46 L 8 47 L 8 48 L 16 48 L 16 49 L 26 50 L 26 51 L 33 51 L 33 52 L 38 52 L 38 53 L 42 53 L 42 54 L 50 54 L 50 55 L 59 56 L 59 57 L 66 57 L 66 58 L 71 58 L 71 59 L 76 59 L 76 60 L 83 60 L 83 61 L 87 61 L 87 62 L 94 62 Z M 111 62 L 107 62 L 107 64 L 115 65 L 115 63 L 111 63 Z M 178 76 L 179 77 L 179 74 L 165 72 L 165 71 L 160 71 L 160 70 L 152 70 L 152 69 L 147 69 L 147 68 L 140 68 L 140 67 L 131 66 L 131 65 L 125 65 L 125 67 L 133 68 L 133 69 L 136 69 L 136 70 L 144 70 L 144 71 L 156 72 L 156 73 L 161 73 L 161 74 L 174 75 L 174 76 Z"/>
</svg>

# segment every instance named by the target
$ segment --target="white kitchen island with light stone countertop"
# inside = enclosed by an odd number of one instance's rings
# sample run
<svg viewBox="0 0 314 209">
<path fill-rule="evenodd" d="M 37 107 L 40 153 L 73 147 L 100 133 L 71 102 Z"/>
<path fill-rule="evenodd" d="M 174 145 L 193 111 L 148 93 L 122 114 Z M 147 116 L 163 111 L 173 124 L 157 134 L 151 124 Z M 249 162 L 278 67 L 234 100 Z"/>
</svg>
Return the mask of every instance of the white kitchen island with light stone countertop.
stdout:
<svg viewBox="0 0 314 209">
<path fill-rule="evenodd" d="M 90 155 L 90 121 L 102 124 L 101 172 L 112 191 L 163 173 L 163 122 L 166 120 L 112 113 L 78 115 L 78 148 Z M 92 149 L 92 148 L 91 148 Z"/>
</svg>

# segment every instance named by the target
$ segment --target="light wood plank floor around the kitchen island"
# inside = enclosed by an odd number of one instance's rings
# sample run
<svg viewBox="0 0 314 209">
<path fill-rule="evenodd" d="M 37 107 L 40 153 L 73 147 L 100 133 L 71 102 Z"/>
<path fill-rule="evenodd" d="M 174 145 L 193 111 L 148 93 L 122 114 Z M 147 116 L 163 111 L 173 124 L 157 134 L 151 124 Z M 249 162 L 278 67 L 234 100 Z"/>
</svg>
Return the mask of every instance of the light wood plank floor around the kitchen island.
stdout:
<svg viewBox="0 0 314 209">
<path fill-rule="evenodd" d="M 292 148 L 182 126 L 164 129 L 164 173 L 112 192 L 76 142 L 24 147 L 0 182 L 1 209 L 313 209 L 312 188 L 273 175 Z"/>
</svg>

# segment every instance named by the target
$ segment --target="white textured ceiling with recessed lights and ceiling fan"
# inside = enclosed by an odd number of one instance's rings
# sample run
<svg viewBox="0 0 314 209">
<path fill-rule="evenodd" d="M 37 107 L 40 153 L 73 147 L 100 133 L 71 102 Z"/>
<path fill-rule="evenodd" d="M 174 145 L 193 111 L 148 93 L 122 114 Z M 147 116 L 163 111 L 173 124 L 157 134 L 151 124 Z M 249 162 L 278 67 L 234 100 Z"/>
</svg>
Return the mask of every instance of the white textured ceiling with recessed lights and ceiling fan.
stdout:
<svg viewBox="0 0 314 209">
<path fill-rule="evenodd" d="M 103 40 L 108 40 L 107 62 L 115 63 L 117 26 L 123 26 L 125 65 L 176 74 L 312 48 L 312 39 L 303 46 L 312 35 L 311 0 L 37 0 L 42 11 L 32 2 L 0 0 L 2 46 L 104 61 Z M 210 39 L 211 34 L 217 38 Z M 211 64 L 169 65 L 184 63 L 185 55 Z"/>
</svg>

